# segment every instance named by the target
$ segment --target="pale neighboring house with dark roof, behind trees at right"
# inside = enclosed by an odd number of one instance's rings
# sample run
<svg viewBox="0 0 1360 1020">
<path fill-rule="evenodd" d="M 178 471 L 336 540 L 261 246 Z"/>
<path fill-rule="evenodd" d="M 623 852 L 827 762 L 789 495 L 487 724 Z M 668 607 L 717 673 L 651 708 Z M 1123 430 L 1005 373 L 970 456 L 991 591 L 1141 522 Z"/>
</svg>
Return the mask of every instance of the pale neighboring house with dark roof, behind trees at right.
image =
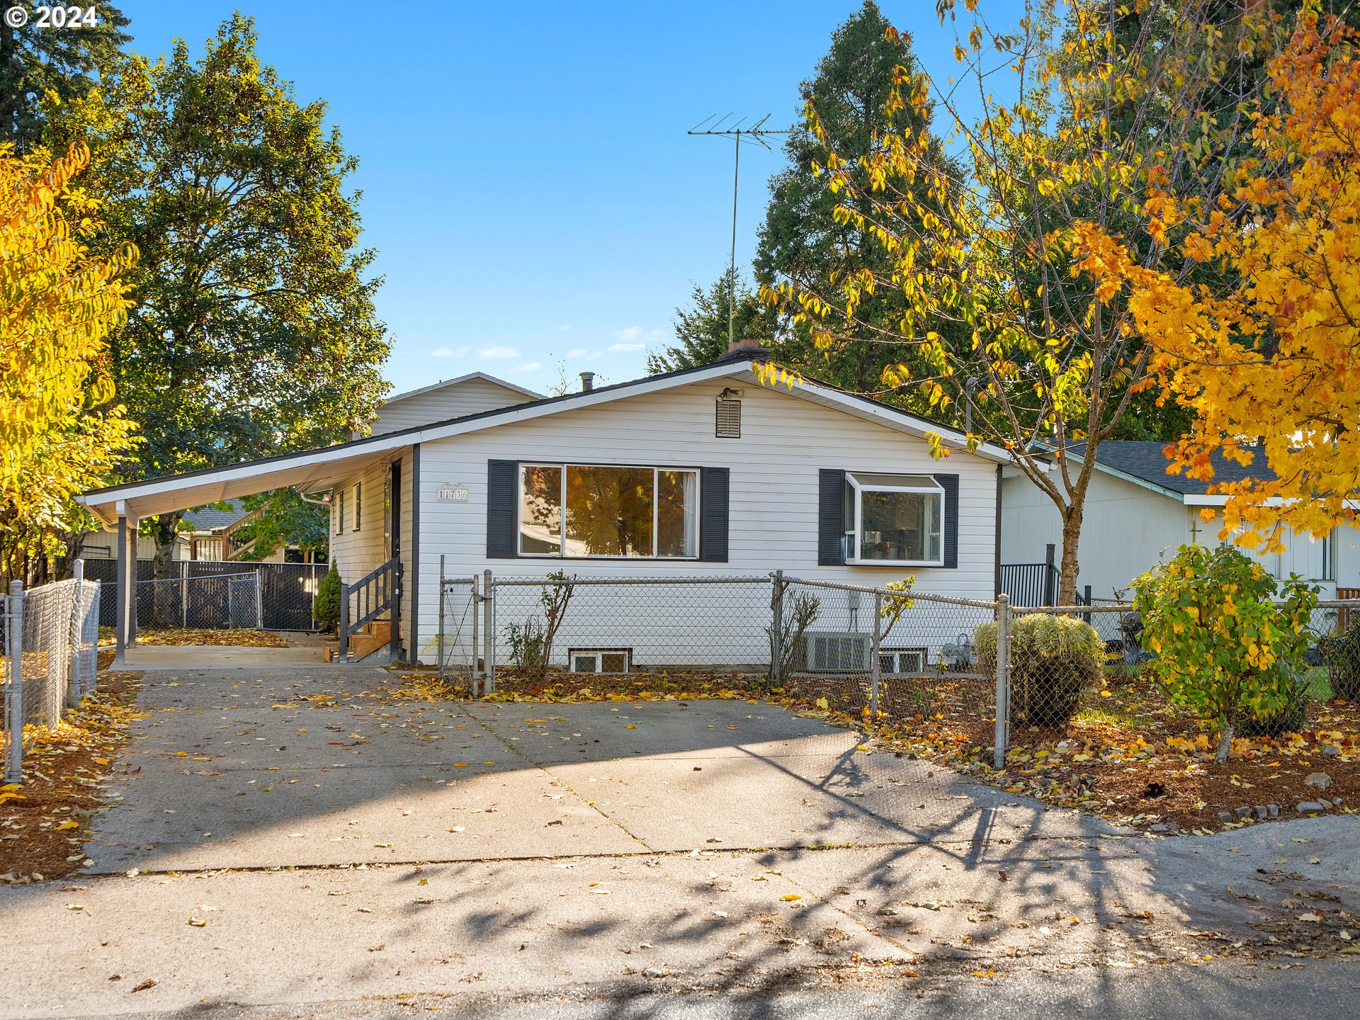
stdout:
<svg viewBox="0 0 1360 1020">
<path fill-rule="evenodd" d="M 1263 462 L 1246 466 L 1214 456 L 1210 481 L 1168 475 L 1164 447 L 1163 442 L 1115 439 L 1098 447 L 1081 526 L 1078 592 L 1089 585 L 1096 598 L 1129 596 L 1130 581 L 1174 555 L 1176 547 L 1220 544 L 1221 515 L 1206 521 L 1204 511 L 1221 507 L 1227 496 L 1210 495 L 1209 488 L 1269 472 Z M 1070 454 L 1073 469 L 1081 462 L 1080 454 L 1076 446 Z M 1055 562 L 1061 560 L 1062 522 L 1049 496 L 1016 475 L 1002 484 L 1001 505 L 1004 583 L 1015 577 L 1010 564 L 1043 563 L 1049 544 L 1054 545 Z M 1284 552 L 1258 558 L 1276 578 L 1299 574 L 1318 583 L 1323 597 L 1336 597 L 1338 586 L 1360 585 L 1360 532 L 1353 528 L 1338 528 L 1325 539 L 1291 533 Z"/>
</svg>

